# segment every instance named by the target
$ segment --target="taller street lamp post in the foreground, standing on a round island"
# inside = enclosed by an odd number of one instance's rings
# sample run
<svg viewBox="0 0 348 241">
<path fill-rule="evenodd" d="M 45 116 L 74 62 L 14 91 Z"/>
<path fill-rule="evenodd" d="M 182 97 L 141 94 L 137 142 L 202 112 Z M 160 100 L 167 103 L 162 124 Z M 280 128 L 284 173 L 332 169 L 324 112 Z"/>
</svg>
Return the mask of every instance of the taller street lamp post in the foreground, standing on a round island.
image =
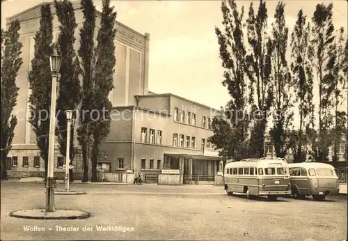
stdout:
<svg viewBox="0 0 348 241">
<path fill-rule="evenodd" d="M 48 148 L 48 169 L 46 185 L 46 212 L 54 212 L 54 142 L 56 135 L 56 90 L 58 72 L 61 68 L 61 56 L 52 54 L 49 58 L 49 64 L 52 72 L 52 91 L 51 91 L 51 109 L 49 116 L 49 148 Z"/>
</svg>

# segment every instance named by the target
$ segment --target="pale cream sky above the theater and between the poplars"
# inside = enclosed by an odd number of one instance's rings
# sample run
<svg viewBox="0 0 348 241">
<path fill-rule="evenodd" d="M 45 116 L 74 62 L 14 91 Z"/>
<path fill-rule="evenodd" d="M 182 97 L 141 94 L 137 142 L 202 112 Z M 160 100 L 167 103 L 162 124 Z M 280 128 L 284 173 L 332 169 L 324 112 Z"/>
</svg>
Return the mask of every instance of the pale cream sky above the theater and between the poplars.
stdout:
<svg viewBox="0 0 348 241">
<path fill-rule="evenodd" d="M 41 2 L 7 0 L 1 3 L 1 28 L 5 28 L 6 17 Z M 101 9 L 101 1 L 94 2 L 97 9 Z M 255 6 L 258 2 L 254 1 Z M 290 33 L 300 8 L 309 20 L 315 6 L 322 3 L 283 2 Z M 347 1 L 324 1 L 331 2 L 335 29 L 340 26 L 347 29 Z M 237 6 L 248 9 L 250 3 L 237 1 Z M 270 19 L 277 3 L 266 1 Z M 225 106 L 230 97 L 221 84 L 223 68 L 214 31 L 215 26 L 222 25 L 221 1 L 112 1 L 112 5 L 119 22 L 140 33 L 150 33 L 149 91 L 174 93 L 216 109 Z"/>
</svg>

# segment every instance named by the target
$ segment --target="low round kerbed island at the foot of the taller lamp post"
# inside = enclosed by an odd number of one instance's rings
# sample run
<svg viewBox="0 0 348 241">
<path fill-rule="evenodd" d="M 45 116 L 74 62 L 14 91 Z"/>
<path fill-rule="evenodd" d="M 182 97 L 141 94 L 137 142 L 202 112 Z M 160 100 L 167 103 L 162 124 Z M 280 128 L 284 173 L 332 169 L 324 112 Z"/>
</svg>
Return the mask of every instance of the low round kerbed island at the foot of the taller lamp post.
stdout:
<svg viewBox="0 0 348 241">
<path fill-rule="evenodd" d="M 61 214 L 56 215 L 57 212 L 61 212 Z M 77 214 L 67 215 L 67 212 L 80 212 L 80 213 L 78 215 Z M 89 212 L 80 211 L 80 210 L 56 210 L 55 212 L 45 212 L 45 209 L 15 210 L 13 212 L 10 212 L 9 216 L 17 217 L 20 219 L 45 219 L 45 220 L 87 219 L 88 217 L 91 217 Z"/>
</svg>

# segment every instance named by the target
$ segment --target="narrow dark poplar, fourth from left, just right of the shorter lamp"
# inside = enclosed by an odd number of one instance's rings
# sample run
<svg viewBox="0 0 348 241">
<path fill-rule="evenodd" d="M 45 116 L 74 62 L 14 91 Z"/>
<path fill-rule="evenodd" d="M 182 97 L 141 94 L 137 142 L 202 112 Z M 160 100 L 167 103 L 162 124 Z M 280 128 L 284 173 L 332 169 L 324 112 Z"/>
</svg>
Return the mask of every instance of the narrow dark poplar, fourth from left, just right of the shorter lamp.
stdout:
<svg viewBox="0 0 348 241">
<path fill-rule="evenodd" d="M 84 25 L 80 31 L 79 57 L 82 65 L 82 100 L 80 110 L 80 126 L 77 129 L 78 141 L 82 149 L 82 159 L 84 162 L 83 182 L 88 181 L 88 151 L 90 136 L 91 116 L 93 110 L 93 72 L 95 63 L 94 53 L 94 31 L 95 31 L 95 6 L 92 0 L 81 0 L 82 12 L 84 13 Z"/>
</svg>

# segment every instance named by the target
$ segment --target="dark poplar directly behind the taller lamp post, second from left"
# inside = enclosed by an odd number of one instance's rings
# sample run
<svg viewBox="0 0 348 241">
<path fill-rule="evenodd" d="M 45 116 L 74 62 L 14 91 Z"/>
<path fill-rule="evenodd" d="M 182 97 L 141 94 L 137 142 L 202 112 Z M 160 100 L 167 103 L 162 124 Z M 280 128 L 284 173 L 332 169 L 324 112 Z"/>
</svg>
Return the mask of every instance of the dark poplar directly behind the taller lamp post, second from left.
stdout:
<svg viewBox="0 0 348 241">
<path fill-rule="evenodd" d="M 52 15 L 49 4 L 41 6 L 40 29 L 35 35 L 34 58 L 29 72 L 29 122 L 36 135 L 36 144 L 45 163 L 47 176 L 49 147 L 49 108 L 51 106 L 52 75 L 49 57 L 53 54 Z"/>
</svg>

